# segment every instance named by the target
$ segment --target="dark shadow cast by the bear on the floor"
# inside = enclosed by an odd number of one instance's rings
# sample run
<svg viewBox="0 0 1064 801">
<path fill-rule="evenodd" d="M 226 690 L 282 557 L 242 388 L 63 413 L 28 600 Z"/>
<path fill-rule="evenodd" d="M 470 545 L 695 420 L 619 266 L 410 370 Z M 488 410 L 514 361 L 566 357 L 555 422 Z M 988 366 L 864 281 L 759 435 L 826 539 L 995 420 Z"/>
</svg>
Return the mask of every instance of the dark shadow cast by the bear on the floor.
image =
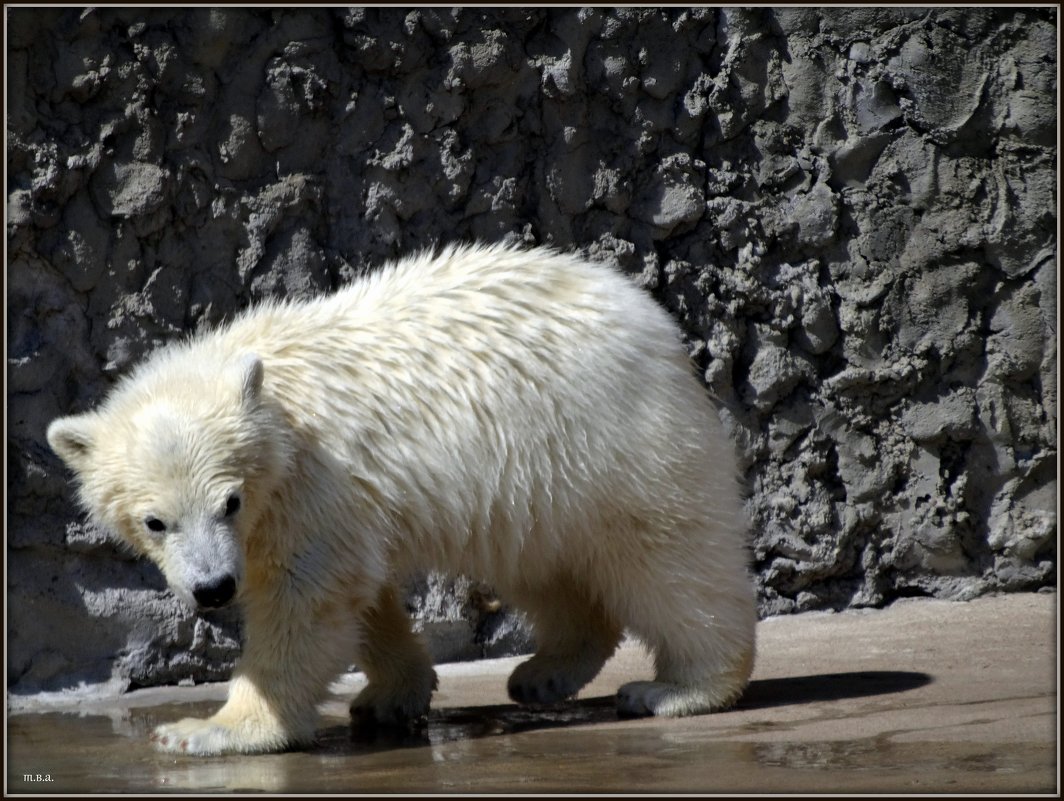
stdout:
<svg viewBox="0 0 1064 801">
<path fill-rule="evenodd" d="M 841 701 L 850 698 L 907 692 L 930 684 L 927 673 L 863 670 L 849 673 L 760 679 L 750 683 L 734 711 Z M 460 706 L 432 710 L 416 730 L 335 725 L 319 733 L 315 751 L 350 753 L 420 748 L 462 739 L 519 734 L 542 729 L 608 723 L 619 719 L 614 696 L 584 698 L 549 706 Z"/>
</svg>

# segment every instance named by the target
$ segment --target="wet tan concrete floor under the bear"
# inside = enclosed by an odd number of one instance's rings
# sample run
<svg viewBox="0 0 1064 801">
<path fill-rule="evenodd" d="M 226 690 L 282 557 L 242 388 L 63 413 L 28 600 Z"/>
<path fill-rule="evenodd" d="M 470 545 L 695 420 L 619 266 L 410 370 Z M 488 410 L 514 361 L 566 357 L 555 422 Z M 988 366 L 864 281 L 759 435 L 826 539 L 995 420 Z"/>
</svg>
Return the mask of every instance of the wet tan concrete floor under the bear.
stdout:
<svg viewBox="0 0 1064 801">
<path fill-rule="evenodd" d="M 1055 595 L 904 601 L 764 621 L 734 710 L 618 719 L 609 696 L 648 678 L 624 646 L 581 698 L 506 701 L 520 660 L 440 666 L 426 730 L 354 736 L 345 677 L 314 748 L 155 753 L 159 722 L 209 715 L 223 685 L 118 698 L 9 699 L 9 794 L 1054 792 Z"/>
</svg>

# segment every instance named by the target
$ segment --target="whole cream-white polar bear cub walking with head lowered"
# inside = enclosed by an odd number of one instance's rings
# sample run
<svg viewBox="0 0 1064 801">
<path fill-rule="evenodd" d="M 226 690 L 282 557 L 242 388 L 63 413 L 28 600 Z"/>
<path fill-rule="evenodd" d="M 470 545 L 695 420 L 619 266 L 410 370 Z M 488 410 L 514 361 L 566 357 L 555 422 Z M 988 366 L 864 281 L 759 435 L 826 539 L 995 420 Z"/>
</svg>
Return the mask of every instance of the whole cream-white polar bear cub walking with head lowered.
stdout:
<svg viewBox="0 0 1064 801">
<path fill-rule="evenodd" d="M 736 460 L 676 324 L 614 270 L 451 247 L 171 345 L 96 411 L 55 420 L 82 504 L 201 608 L 237 602 L 220 711 L 165 751 L 313 739 L 352 660 L 352 715 L 423 716 L 436 684 L 400 587 L 491 582 L 538 646 L 521 703 L 572 697 L 628 629 L 655 660 L 621 713 L 726 707 L 752 669 Z"/>
</svg>

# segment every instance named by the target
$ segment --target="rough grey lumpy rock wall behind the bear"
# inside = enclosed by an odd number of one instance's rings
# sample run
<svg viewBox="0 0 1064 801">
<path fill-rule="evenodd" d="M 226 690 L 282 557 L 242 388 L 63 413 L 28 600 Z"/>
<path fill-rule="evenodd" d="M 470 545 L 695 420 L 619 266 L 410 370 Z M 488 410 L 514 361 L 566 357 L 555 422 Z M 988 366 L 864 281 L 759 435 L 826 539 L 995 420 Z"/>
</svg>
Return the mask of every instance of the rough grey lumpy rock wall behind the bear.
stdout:
<svg viewBox="0 0 1064 801">
<path fill-rule="evenodd" d="M 763 613 L 1054 582 L 1054 10 L 6 13 L 16 688 L 237 650 L 83 523 L 48 421 L 451 239 L 579 249 L 677 316 Z M 437 653 L 519 647 L 473 589 L 412 598 Z"/>
</svg>

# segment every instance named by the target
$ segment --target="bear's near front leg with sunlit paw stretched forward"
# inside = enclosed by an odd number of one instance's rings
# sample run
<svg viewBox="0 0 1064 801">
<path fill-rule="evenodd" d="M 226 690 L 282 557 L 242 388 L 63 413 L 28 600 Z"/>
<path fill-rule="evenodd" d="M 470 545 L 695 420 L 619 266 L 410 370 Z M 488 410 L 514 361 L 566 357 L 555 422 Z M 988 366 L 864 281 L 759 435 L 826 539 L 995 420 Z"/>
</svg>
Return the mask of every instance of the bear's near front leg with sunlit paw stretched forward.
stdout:
<svg viewBox="0 0 1064 801">
<path fill-rule="evenodd" d="M 245 607 L 244 653 L 225 705 L 206 719 L 155 729 L 162 751 L 188 754 L 270 753 L 309 745 L 317 704 L 354 648 L 350 607 L 285 601 Z"/>
</svg>

